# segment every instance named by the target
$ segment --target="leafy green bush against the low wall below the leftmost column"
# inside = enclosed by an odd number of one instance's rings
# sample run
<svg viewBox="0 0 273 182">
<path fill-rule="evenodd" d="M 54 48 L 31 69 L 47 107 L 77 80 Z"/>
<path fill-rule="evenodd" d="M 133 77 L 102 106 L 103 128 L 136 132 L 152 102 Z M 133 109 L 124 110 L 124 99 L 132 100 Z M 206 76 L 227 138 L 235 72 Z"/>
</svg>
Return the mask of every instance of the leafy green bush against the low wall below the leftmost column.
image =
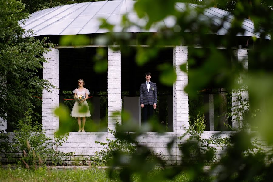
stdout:
<svg viewBox="0 0 273 182">
<path fill-rule="evenodd" d="M 45 165 L 50 161 L 53 165 L 62 164 L 63 158 L 73 155 L 58 151 L 67 136 L 54 136 L 53 140 L 45 135 L 42 124 L 34 121 L 32 110 L 25 112 L 14 130 L 13 152 L 20 153 L 19 164 L 26 168 L 36 169 L 37 165 Z"/>
</svg>

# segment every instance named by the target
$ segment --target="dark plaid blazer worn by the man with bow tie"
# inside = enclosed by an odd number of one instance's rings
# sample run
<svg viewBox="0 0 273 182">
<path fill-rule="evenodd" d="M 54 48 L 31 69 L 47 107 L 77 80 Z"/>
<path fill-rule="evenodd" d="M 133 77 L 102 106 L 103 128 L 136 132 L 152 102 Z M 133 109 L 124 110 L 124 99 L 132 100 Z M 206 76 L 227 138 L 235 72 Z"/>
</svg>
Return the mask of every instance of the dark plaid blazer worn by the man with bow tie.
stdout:
<svg viewBox="0 0 273 182">
<path fill-rule="evenodd" d="M 148 92 L 146 82 L 140 85 L 140 104 L 153 105 L 157 104 L 157 85 L 153 82 L 150 83 L 150 89 Z"/>
</svg>

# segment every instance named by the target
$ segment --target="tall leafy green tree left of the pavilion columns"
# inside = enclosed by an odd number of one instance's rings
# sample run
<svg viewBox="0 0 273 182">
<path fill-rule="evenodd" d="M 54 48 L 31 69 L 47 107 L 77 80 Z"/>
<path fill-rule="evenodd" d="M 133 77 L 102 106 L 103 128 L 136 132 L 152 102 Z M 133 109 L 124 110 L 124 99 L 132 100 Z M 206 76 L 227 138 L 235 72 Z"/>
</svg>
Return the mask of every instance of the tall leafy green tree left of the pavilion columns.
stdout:
<svg viewBox="0 0 273 182">
<path fill-rule="evenodd" d="M 42 79 L 43 53 L 49 51 L 46 38 L 32 37 L 23 24 L 28 13 L 20 1 L 0 0 L 0 118 L 10 124 L 22 117 L 24 110 L 41 106 L 42 89 L 55 87 Z"/>
</svg>

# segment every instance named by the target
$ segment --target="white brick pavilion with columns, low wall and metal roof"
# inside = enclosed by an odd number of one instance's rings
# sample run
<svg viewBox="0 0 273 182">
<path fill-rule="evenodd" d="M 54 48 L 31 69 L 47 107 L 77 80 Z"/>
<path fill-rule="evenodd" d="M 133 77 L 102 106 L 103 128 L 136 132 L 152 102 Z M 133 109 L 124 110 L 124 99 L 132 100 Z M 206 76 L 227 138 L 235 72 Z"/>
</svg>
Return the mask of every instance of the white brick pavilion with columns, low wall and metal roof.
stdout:
<svg viewBox="0 0 273 182">
<path fill-rule="evenodd" d="M 145 19 L 139 19 L 133 9 L 133 0 L 115 0 L 115 1 L 98 1 L 85 2 L 69 5 L 62 5 L 54 8 L 44 9 L 30 15 L 24 25 L 24 29 L 32 29 L 35 36 L 42 38 L 49 37 L 52 43 L 59 43 L 59 39 L 63 35 L 80 35 L 84 34 L 96 37 L 108 30 L 100 28 L 99 18 L 104 18 L 110 24 L 115 25 L 114 32 L 124 32 L 120 25 L 121 18 L 127 14 L 128 19 L 136 23 L 145 23 Z M 184 11 L 186 6 L 196 8 L 197 5 L 176 3 L 176 8 Z M 228 32 L 231 25 L 232 15 L 230 12 L 218 9 L 208 8 L 204 11 L 204 17 L 214 19 L 217 24 L 223 17 L 228 17 L 224 23 L 224 27 L 220 29 L 215 36 L 224 36 Z M 129 27 L 125 32 L 139 34 L 143 32 L 157 32 L 161 26 L 173 26 L 174 19 L 168 18 L 149 30 L 142 30 L 136 26 Z M 246 30 L 244 35 L 238 35 L 237 45 L 234 45 L 234 55 L 238 60 L 244 61 L 245 69 L 248 68 L 248 49 L 242 46 L 242 42 L 246 42 L 249 37 L 257 37 L 254 33 L 254 23 L 248 19 L 243 22 L 243 28 Z M 270 39 L 270 37 L 268 37 Z M 113 46 L 114 45 L 113 43 Z M 47 136 L 53 136 L 54 132 L 59 128 L 59 118 L 54 115 L 54 110 L 59 107 L 62 100 L 61 90 L 73 90 L 76 87 L 77 80 L 83 78 L 86 82 L 86 88 L 91 93 L 104 92 L 107 97 L 107 128 L 115 130 L 116 122 L 121 123 L 121 116 L 115 116 L 112 113 L 121 112 L 122 107 L 128 110 L 133 116 L 133 122 L 141 125 L 141 108 L 139 102 L 140 83 L 145 81 L 143 74 L 147 68 L 135 68 L 134 53 L 129 56 L 125 52 L 116 51 L 113 46 L 99 45 L 90 43 L 84 46 L 62 46 L 57 45 L 51 51 L 45 52 L 44 57 L 48 62 L 44 63 L 43 78 L 49 80 L 50 83 L 57 86 L 58 89 L 52 89 L 52 92 L 43 91 L 42 101 L 42 126 Z M 132 45 L 132 47 L 137 45 Z M 93 63 L 90 57 L 96 54 L 96 48 L 102 47 L 107 52 L 107 72 L 97 75 L 93 71 Z M 173 147 L 172 155 L 168 153 L 167 143 L 173 138 L 182 136 L 185 128 L 189 127 L 189 96 L 184 91 L 184 87 L 188 84 L 188 75 L 180 70 L 180 65 L 187 63 L 188 52 L 200 48 L 199 45 L 188 47 L 187 45 L 172 46 L 162 48 L 163 54 L 158 57 L 158 62 L 152 62 L 148 65 L 148 71 L 152 72 L 152 81 L 158 84 L 158 90 L 167 93 L 168 106 L 168 127 L 169 132 L 158 135 L 156 132 L 147 132 L 139 138 L 139 142 L 152 147 L 155 152 L 163 152 L 165 159 L 170 163 L 179 162 L 180 151 L 178 147 Z M 219 49 L 224 49 L 219 47 Z M 163 56 L 164 55 L 164 56 Z M 91 62 L 91 63 L 90 63 Z M 162 62 L 170 62 L 173 64 L 177 81 L 173 87 L 160 85 L 157 78 L 158 71 L 155 69 L 156 64 Z M 77 65 L 86 65 L 84 69 L 80 69 Z M 155 65 L 153 65 L 155 64 Z M 81 71 L 79 71 L 81 70 Z M 126 94 L 124 94 L 124 93 Z M 164 94 L 162 94 L 164 95 Z M 248 97 L 248 93 L 245 93 Z M 208 94 L 209 102 L 209 131 L 205 131 L 204 137 L 210 137 L 217 133 L 214 131 L 214 105 L 213 94 Z M 93 104 L 98 106 L 101 104 L 99 96 L 94 96 Z M 236 103 L 234 103 L 236 104 Z M 160 103 L 158 103 L 160 105 Z M 94 120 L 99 120 L 99 107 L 93 109 Z M 236 123 L 233 125 L 236 127 Z M 231 131 L 223 131 L 222 136 L 228 136 Z M 106 142 L 107 137 L 112 137 L 109 131 L 101 132 L 70 132 L 68 140 L 63 144 L 61 151 L 75 152 L 75 156 L 93 155 L 96 151 L 102 150 L 103 147 L 96 144 L 95 141 Z M 183 141 L 177 140 L 175 145 Z M 71 159 L 72 161 L 73 159 Z M 71 163 L 71 161 L 67 161 Z"/>
</svg>

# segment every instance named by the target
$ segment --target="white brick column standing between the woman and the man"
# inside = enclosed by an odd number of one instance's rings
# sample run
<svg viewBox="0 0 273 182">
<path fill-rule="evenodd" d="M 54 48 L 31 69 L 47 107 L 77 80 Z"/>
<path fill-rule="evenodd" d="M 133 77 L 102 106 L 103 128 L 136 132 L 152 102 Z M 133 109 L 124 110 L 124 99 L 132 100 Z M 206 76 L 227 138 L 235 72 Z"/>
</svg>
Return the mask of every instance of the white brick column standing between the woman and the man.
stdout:
<svg viewBox="0 0 273 182">
<path fill-rule="evenodd" d="M 113 116 L 114 112 L 121 113 L 121 52 L 108 47 L 107 72 L 108 128 L 115 130 L 116 122 L 121 123 L 121 116 Z"/>
</svg>

